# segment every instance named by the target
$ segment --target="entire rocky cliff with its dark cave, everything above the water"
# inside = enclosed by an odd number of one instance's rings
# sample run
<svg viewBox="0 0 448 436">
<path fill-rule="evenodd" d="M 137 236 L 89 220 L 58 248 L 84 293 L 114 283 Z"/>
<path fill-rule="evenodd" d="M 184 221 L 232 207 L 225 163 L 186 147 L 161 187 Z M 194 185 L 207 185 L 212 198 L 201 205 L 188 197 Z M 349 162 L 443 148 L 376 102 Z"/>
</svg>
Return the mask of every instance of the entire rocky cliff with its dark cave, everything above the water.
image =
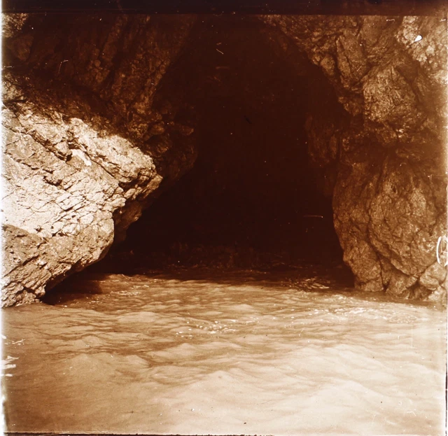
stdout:
<svg viewBox="0 0 448 436">
<path fill-rule="evenodd" d="M 363 292 L 444 296 L 441 20 L 105 13 L 10 27 L 5 180 L 20 202 L 8 197 L 4 304 L 93 264 L 347 265 Z"/>
</svg>

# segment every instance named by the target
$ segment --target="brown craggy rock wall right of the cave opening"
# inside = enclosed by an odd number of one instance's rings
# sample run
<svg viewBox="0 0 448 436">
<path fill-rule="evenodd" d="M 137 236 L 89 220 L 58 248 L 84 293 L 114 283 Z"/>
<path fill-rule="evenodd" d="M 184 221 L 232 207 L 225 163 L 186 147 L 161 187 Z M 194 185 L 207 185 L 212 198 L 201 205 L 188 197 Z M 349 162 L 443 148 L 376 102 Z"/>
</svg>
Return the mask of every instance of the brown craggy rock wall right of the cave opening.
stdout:
<svg viewBox="0 0 448 436">
<path fill-rule="evenodd" d="M 447 20 L 261 19 L 321 67 L 351 115 L 311 116 L 307 127 L 309 153 L 335 181 L 335 228 L 356 286 L 444 300 L 435 246 L 447 234 Z"/>
</svg>

